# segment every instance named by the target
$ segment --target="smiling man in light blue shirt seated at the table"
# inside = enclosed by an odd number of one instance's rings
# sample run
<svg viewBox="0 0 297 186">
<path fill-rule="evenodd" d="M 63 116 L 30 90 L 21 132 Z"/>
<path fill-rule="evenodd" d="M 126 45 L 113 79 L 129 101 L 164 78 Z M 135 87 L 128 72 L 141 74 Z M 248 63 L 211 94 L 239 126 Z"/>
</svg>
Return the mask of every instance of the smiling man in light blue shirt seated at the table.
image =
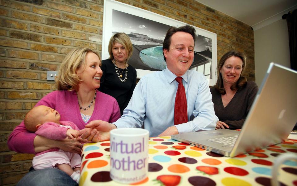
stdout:
<svg viewBox="0 0 297 186">
<path fill-rule="evenodd" d="M 189 25 L 171 27 L 163 43 L 166 69 L 140 79 L 118 121 L 113 124 L 92 121 L 86 127 L 93 130 L 84 133 L 82 138 L 102 141 L 109 139 L 111 129 L 127 127 L 144 127 L 151 137 L 215 129 L 217 117 L 208 81 L 203 74 L 188 70 L 194 58 L 195 34 Z M 187 122 L 179 125 L 174 125 L 174 100 L 179 84 L 176 77 L 183 78 L 187 98 Z"/>
</svg>

